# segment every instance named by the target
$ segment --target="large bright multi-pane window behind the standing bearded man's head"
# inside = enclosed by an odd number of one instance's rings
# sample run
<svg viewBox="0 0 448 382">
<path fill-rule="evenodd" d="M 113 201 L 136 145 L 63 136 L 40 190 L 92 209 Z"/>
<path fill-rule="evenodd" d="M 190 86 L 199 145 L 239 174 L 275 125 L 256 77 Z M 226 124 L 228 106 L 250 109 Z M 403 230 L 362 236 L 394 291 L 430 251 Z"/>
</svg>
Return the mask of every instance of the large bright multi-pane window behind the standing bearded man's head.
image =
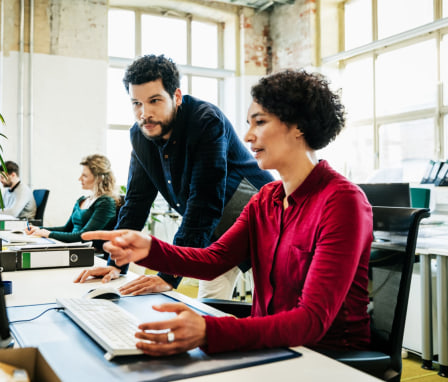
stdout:
<svg viewBox="0 0 448 382">
<path fill-rule="evenodd" d="M 166 13 L 166 12 L 164 12 Z M 169 13 L 169 12 L 168 12 Z M 126 66 L 144 54 L 164 54 L 181 72 L 181 90 L 221 106 L 224 79 L 233 75 L 222 67 L 223 25 L 191 15 L 167 16 L 137 10 L 109 10 L 109 75 L 107 152 L 117 183 L 125 185 L 134 123 L 131 103 L 122 83 Z"/>
</svg>

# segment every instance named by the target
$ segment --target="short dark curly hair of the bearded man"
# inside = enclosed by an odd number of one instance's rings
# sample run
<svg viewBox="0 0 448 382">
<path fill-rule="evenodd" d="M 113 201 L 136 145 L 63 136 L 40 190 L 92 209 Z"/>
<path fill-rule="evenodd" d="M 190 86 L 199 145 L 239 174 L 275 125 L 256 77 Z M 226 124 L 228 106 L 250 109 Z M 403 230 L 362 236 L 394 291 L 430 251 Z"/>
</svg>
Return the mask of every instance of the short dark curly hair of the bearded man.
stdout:
<svg viewBox="0 0 448 382">
<path fill-rule="evenodd" d="M 156 56 L 148 54 L 137 58 L 126 69 L 123 83 L 129 93 L 129 84 L 141 85 L 146 82 L 162 79 L 163 87 L 172 97 L 177 88 L 180 87 L 179 70 L 171 58 L 163 54 Z"/>
</svg>

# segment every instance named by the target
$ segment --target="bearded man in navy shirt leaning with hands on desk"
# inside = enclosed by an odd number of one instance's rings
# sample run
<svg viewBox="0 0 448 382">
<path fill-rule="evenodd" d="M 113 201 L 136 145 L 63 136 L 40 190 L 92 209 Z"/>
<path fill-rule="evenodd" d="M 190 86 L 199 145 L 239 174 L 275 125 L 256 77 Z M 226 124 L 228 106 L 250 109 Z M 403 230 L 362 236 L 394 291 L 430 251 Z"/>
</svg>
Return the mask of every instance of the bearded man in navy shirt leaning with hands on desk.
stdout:
<svg viewBox="0 0 448 382">
<path fill-rule="evenodd" d="M 116 229 L 141 230 L 157 193 L 182 215 L 174 244 L 207 247 L 236 220 L 260 187 L 273 180 L 261 170 L 222 111 L 189 95 L 182 96 L 179 72 L 171 59 L 147 55 L 135 60 L 123 79 L 136 123 L 125 204 Z M 200 264 L 198 264 L 200 266 Z M 246 271 L 250 265 L 241 264 Z M 84 271 L 76 281 L 120 271 L 108 267 Z M 200 281 L 198 297 L 230 298 L 238 268 L 212 281 Z M 121 288 L 123 294 L 176 288 L 181 277 L 141 276 Z"/>
</svg>

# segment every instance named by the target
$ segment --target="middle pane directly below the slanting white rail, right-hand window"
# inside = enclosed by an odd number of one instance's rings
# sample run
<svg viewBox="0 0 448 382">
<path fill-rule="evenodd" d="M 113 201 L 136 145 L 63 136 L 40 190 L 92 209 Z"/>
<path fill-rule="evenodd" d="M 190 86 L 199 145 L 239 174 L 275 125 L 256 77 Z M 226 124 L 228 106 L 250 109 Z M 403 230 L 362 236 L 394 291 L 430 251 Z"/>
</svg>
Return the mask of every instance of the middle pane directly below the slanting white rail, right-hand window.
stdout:
<svg viewBox="0 0 448 382">
<path fill-rule="evenodd" d="M 381 54 L 377 58 L 376 67 L 379 115 L 436 105 L 435 40 Z"/>
</svg>

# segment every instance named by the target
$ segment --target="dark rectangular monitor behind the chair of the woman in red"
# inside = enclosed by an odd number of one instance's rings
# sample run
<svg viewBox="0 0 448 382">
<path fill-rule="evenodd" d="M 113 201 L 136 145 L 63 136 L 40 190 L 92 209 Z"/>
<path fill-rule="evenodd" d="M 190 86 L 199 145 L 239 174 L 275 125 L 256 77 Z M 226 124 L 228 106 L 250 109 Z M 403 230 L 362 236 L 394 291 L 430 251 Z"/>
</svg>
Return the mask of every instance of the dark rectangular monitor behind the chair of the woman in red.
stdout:
<svg viewBox="0 0 448 382">
<path fill-rule="evenodd" d="M 409 183 L 360 183 L 372 206 L 410 207 Z"/>
</svg>

